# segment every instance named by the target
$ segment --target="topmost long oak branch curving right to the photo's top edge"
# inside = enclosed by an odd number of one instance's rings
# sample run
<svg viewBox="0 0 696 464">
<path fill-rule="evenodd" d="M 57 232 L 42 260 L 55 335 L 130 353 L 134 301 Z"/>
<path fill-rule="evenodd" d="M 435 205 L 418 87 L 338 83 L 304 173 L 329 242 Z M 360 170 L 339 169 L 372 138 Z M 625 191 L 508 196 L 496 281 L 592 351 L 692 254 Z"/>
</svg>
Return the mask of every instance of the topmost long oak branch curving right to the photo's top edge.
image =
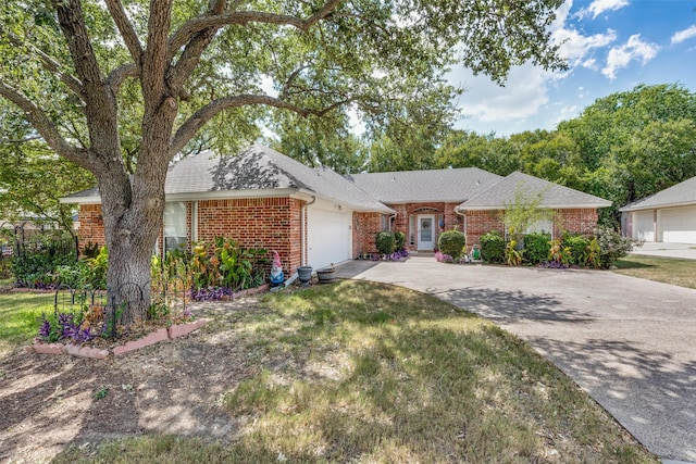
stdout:
<svg viewBox="0 0 696 464">
<path fill-rule="evenodd" d="M 338 7 L 341 0 L 327 1 L 316 13 L 302 20 L 289 14 L 274 14 L 261 11 L 231 11 L 221 14 L 206 13 L 186 22 L 169 40 L 169 59 L 172 60 L 176 52 L 184 47 L 196 34 L 209 27 L 220 28 L 233 24 L 244 25 L 249 23 L 276 24 L 279 26 L 293 26 L 307 32 L 316 23 L 327 17 Z"/>
</svg>

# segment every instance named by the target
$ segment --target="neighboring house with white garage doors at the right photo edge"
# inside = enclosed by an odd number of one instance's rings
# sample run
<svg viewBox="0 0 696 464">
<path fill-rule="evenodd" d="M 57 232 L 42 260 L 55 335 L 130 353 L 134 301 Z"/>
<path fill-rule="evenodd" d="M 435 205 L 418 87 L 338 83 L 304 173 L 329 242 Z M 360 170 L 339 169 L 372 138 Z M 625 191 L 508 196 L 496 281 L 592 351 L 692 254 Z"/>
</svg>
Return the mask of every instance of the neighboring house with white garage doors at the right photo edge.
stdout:
<svg viewBox="0 0 696 464">
<path fill-rule="evenodd" d="M 696 243 L 696 177 L 619 211 L 624 235 L 634 240 Z"/>
</svg>

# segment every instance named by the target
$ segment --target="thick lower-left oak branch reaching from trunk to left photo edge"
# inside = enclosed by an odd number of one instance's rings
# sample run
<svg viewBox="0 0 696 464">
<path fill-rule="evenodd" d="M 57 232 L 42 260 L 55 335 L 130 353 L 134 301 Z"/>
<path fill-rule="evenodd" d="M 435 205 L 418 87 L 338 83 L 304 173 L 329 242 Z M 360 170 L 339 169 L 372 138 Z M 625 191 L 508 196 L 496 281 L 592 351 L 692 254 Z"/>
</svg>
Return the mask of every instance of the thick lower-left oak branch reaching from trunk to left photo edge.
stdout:
<svg viewBox="0 0 696 464">
<path fill-rule="evenodd" d="M 53 122 L 34 102 L 32 102 L 22 91 L 7 85 L 0 80 L 0 96 L 16 104 L 34 128 L 46 140 L 49 147 L 61 156 L 89 170 L 87 151 L 80 150 L 67 143 L 59 134 Z"/>
</svg>

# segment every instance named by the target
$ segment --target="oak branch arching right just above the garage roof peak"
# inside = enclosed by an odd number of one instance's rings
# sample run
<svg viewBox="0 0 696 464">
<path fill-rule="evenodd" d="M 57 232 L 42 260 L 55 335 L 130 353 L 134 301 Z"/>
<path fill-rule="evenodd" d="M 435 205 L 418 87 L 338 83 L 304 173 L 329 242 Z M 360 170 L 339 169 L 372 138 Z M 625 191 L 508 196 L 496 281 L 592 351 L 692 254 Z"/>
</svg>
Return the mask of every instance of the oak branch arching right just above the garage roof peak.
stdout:
<svg viewBox="0 0 696 464">
<path fill-rule="evenodd" d="M 210 120 L 212 120 L 215 115 L 224 110 L 248 105 L 266 105 L 278 108 L 282 110 L 289 110 L 304 117 L 309 115 L 323 116 L 330 111 L 333 111 L 344 104 L 350 103 L 351 101 L 355 101 L 355 99 L 348 98 L 345 100 L 336 101 L 322 110 L 312 110 L 298 106 L 287 101 L 283 101 L 278 98 L 262 95 L 239 95 L 234 97 L 220 98 L 217 100 L 211 101 L 210 103 L 198 110 L 186 122 L 184 122 L 184 124 L 179 126 L 170 145 L 170 159 L 174 158 L 176 153 L 182 151 L 186 143 L 188 143 L 189 140 L 196 136 L 201 127 L 203 127 Z"/>
</svg>

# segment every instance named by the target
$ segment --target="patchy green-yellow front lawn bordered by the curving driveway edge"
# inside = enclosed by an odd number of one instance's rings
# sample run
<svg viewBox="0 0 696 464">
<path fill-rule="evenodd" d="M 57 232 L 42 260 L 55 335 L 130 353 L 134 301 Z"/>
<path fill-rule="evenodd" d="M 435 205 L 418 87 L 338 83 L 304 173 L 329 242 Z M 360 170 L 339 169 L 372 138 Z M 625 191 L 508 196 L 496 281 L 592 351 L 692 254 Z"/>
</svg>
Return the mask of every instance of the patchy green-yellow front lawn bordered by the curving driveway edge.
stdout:
<svg viewBox="0 0 696 464">
<path fill-rule="evenodd" d="M 55 462 L 657 462 L 526 343 L 435 298 L 341 281 L 262 306 L 209 325 L 238 333 L 256 373 L 220 400 L 229 442 L 128 438 Z"/>
</svg>

